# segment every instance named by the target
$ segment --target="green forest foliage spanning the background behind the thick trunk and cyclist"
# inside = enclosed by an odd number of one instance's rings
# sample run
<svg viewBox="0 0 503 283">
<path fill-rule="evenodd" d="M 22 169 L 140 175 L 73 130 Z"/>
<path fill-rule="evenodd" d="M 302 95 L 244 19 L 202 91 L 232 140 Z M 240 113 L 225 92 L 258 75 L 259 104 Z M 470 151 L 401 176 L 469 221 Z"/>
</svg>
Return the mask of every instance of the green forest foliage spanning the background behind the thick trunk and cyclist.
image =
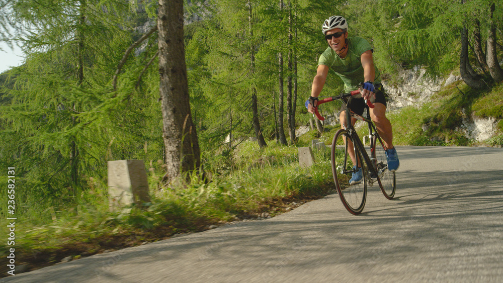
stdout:
<svg viewBox="0 0 503 283">
<path fill-rule="evenodd" d="M 155 25 L 155 2 L 147 4 L 0 0 L 0 39 L 27 54 L 22 66 L 2 74 L 0 89 L 0 163 L 16 167 L 21 213 L 103 198 L 108 160 L 145 160 L 151 187 L 161 185 L 165 160 L 156 33 L 118 71 L 128 47 Z M 493 35 L 501 60 L 501 7 L 501 1 L 488 0 L 187 4 L 185 54 L 203 167 L 217 176 L 228 148 L 255 137 L 254 93 L 267 141 L 277 140 L 278 131 L 288 137 L 287 119 L 293 113 L 294 127 L 308 123 L 304 100 L 317 58 L 327 47 L 320 26 L 329 16 L 346 17 L 350 36 L 369 40 L 376 65 L 389 81 L 400 83 L 396 74 L 403 67 L 421 65 L 431 75 L 468 67 L 471 79 L 492 87 L 499 81 L 482 59 Z M 468 63 L 460 66 L 463 30 Z M 331 74 L 321 95 L 341 90 L 342 83 Z M 280 108 L 280 93 L 285 101 L 291 96 L 290 104 L 298 100 L 290 113 L 288 103 Z M 280 112 L 284 128 L 278 127 Z M 5 213 L 7 205 L 0 207 Z"/>
</svg>

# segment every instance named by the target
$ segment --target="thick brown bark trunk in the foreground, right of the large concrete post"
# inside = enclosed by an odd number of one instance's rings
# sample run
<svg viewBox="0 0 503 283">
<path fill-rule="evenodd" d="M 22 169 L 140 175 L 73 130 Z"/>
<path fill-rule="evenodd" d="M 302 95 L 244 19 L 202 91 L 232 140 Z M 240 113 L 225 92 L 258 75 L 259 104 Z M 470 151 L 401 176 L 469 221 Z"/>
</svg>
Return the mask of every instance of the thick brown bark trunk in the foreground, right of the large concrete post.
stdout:
<svg viewBox="0 0 503 283">
<path fill-rule="evenodd" d="M 192 121 L 185 65 L 183 0 L 159 0 L 159 95 L 166 157 L 164 181 L 199 168 L 200 152 Z"/>
</svg>

